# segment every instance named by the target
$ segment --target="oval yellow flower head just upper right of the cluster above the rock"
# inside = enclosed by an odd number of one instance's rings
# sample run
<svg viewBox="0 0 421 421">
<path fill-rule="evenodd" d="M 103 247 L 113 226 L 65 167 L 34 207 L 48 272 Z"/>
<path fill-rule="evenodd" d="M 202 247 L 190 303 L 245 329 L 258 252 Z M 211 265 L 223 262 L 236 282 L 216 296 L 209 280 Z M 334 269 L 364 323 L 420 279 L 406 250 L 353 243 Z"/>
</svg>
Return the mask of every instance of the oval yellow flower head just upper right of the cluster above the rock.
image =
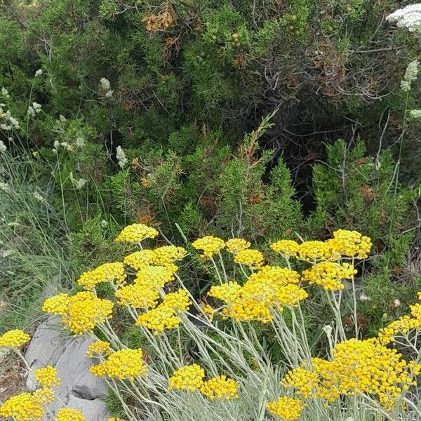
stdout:
<svg viewBox="0 0 421 421">
<path fill-rule="evenodd" d="M 145 282 L 132 283 L 116 290 L 115 296 L 121 305 L 149 309 L 158 303 L 159 289 Z"/>
</svg>

